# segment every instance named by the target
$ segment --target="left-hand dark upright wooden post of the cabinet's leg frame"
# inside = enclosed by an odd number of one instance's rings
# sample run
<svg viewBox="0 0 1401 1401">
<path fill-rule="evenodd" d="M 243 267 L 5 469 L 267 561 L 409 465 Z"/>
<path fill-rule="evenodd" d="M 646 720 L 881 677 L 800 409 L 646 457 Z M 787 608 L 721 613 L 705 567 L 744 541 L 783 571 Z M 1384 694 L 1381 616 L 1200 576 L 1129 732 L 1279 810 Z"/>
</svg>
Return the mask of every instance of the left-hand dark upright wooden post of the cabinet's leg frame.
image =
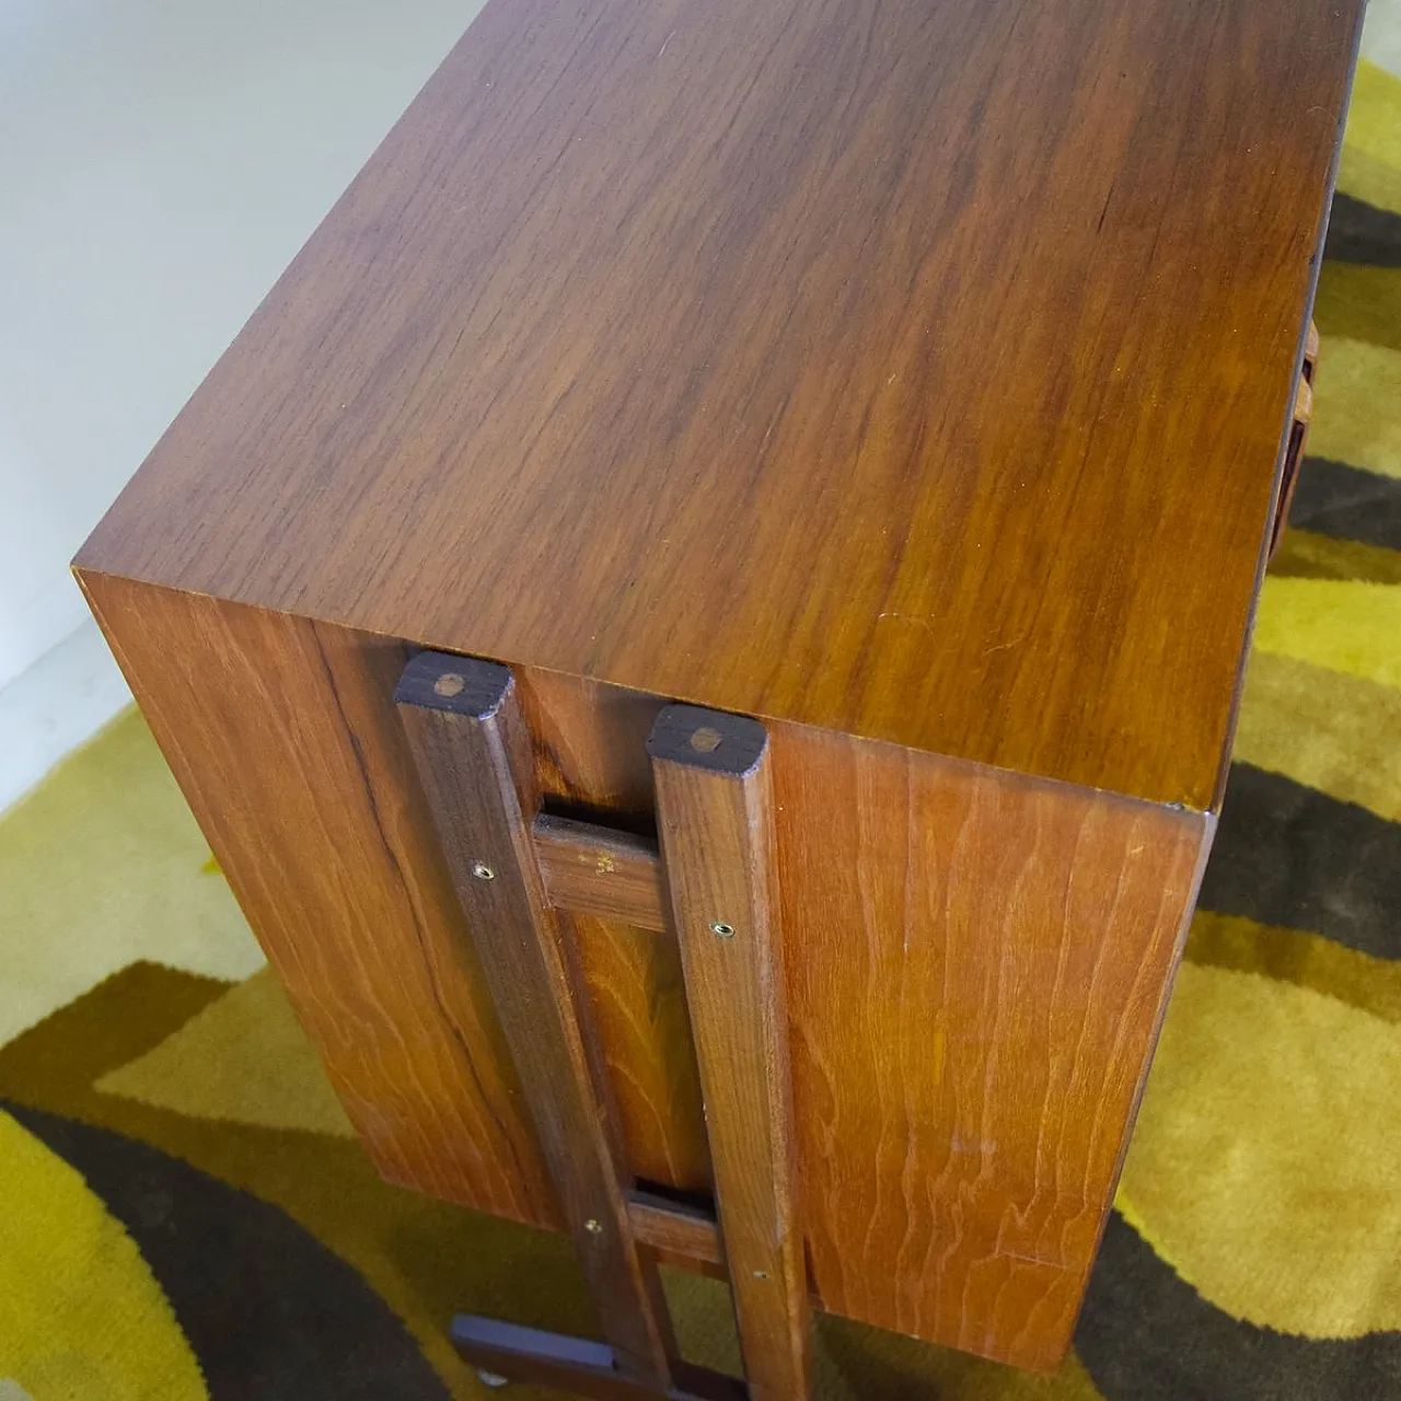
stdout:
<svg viewBox="0 0 1401 1401">
<path fill-rule="evenodd" d="M 510 670 L 419 653 L 395 702 L 612 1365 L 667 1391 L 678 1358 L 671 1318 L 656 1264 L 632 1233 L 622 1138 L 573 933 L 545 898 L 531 832 L 535 761 Z"/>
</svg>

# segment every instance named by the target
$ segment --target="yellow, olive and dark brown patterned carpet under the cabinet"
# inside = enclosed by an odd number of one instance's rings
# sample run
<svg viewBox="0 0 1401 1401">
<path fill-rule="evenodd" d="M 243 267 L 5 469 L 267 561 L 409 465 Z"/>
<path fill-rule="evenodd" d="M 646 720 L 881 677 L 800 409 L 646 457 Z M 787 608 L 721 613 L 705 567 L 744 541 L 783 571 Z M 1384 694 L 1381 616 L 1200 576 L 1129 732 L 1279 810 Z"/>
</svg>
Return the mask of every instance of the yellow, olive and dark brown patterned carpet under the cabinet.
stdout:
<svg viewBox="0 0 1401 1401">
<path fill-rule="evenodd" d="M 1401 83 L 1369 64 L 1339 189 L 1311 455 L 1075 1352 L 828 1318 L 825 1401 L 1401 1401 Z M 455 1309 L 588 1330 L 562 1240 L 378 1181 L 259 962 L 137 716 L 0 821 L 0 1401 L 476 1397 Z M 733 1369 L 720 1286 L 668 1290 Z"/>
</svg>

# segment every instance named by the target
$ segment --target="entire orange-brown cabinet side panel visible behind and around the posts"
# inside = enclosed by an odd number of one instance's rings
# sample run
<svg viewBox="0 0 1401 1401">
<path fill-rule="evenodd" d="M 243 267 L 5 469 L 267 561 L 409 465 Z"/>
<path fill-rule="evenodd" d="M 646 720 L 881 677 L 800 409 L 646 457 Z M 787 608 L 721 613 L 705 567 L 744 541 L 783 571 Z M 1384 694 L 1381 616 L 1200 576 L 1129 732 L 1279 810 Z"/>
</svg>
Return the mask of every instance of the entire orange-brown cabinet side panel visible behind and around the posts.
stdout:
<svg viewBox="0 0 1401 1401">
<path fill-rule="evenodd" d="M 420 1191 L 562 1224 L 392 709 L 405 649 L 123 580 L 84 584 L 375 1164 Z M 520 681 L 527 712 L 535 679 Z M 609 793 L 650 806 L 643 741 L 660 708 L 649 700 L 639 727 L 637 698 L 562 685 L 551 713 L 573 713 L 594 740 L 563 761 L 537 741 L 542 787 L 584 807 Z M 769 730 L 815 1299 L 1052 1365 L 1112 1198 L 1210 818 Z M 643 946 L 609 960 L 611 941 L 594 947 L 577 927 L 607 1033 L 602 1009 L 639 985 L 629 960 Z M 679 984 L 679 965 L 670 976 Z M 684 1163 L 703 1126 L 698 1091 L 692 1118 L 667 1118 L 682 1103 L 675 1066 L 695 1075 L 686 1024 L 630 1024 L 643 1030 L 602 1040 L 619 1108 L 626 1084 L 646 1087 L 623 1133 L 640 1174 Z"/>
</svg>

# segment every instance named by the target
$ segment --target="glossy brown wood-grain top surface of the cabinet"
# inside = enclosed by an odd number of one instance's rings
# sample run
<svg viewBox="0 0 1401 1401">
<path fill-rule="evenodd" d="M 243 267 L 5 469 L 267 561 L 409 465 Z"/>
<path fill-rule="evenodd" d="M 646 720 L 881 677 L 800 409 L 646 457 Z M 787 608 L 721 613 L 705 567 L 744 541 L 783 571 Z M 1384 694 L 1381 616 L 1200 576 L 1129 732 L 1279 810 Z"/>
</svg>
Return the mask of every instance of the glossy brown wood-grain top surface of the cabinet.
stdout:
<svg viewBox="0 0 1401 1401">
<path fill-rule="evenodd" d="M 1217 794 L 1359 0 L 492 0 L 78 558 Z"/>
</svg>

